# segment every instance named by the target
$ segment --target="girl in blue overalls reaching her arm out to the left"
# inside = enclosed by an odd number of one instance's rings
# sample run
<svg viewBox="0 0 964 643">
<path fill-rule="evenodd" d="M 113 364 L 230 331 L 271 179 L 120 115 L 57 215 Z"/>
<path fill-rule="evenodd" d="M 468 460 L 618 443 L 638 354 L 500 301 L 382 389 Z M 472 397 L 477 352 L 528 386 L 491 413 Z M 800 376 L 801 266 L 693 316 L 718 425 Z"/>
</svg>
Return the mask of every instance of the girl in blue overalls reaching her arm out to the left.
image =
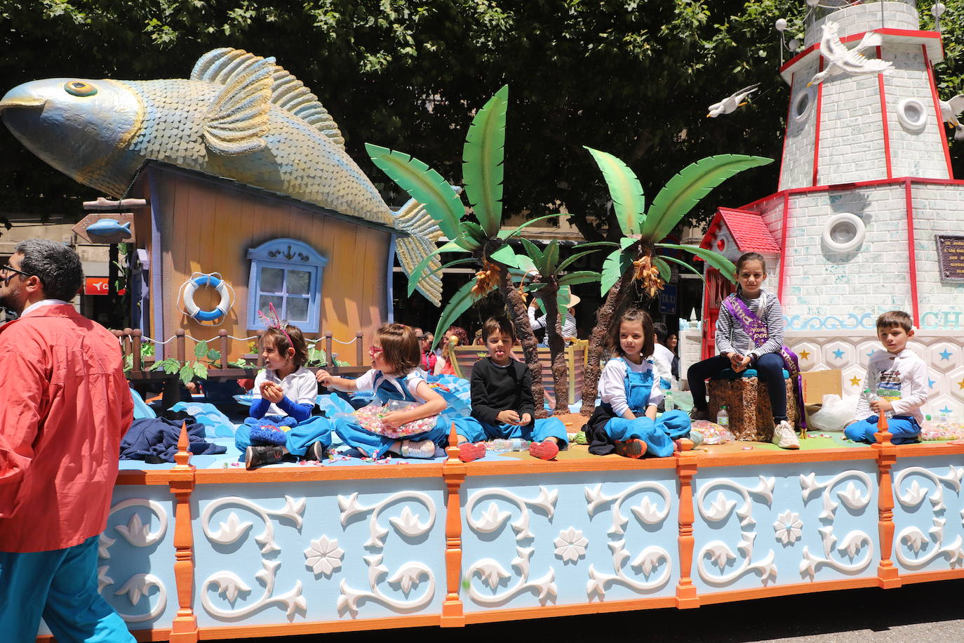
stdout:
<svg viewBox="0 0 964 643">
<path fill-rule="evenodd" d="M 395 411 L 383 417 L 389 426 L 400 426 L 423 417 L 439 415 L 447 404 L 442 395 L 429 388 L 417 370 L 421 361 L 415 329 L 403 324 L 385 324 L 375 332 L 368 348 L 372 368 L 357 380 L 335 377 L 324 370 L 315 376 L 325 387 L 337 390 L 371 390 L 382 404 L 389 400 L 418 402 L 419 406 Z M 335 433 L 341 440 L 354 446 L 367 456 L 379 458 L 386 453 L 396 453 L 406 458 L 434 458 L 436 446 L 447 440 L 445 422 L 437 421 L 434 428 L 396 440 L 372 433 L 355 422 L 352 417 L 335 419 Z"/>
</svg>

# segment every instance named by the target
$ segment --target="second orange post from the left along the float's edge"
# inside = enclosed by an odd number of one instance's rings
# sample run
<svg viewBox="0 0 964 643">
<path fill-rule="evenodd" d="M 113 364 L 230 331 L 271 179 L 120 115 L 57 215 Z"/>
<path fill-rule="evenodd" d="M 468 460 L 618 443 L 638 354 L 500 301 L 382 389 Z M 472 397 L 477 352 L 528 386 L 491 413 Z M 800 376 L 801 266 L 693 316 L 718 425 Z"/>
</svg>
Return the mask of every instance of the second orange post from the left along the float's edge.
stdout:
<svg viewBox="0 0 964 643">
<path fill-rule="evenodd" d="M 442 465 L 442 477 L 448 488 L 445 500 L 445 601 L 442 603 L 442 628 L 462 628 L 466 625 L 465 610 L 459 598 L 462 580 L 462 503 L 459 490 L 466 481 L 466 463 L 459 460 L 459 440 L 452 422 L 448 434 L 448 459 Z"/>
</svg>

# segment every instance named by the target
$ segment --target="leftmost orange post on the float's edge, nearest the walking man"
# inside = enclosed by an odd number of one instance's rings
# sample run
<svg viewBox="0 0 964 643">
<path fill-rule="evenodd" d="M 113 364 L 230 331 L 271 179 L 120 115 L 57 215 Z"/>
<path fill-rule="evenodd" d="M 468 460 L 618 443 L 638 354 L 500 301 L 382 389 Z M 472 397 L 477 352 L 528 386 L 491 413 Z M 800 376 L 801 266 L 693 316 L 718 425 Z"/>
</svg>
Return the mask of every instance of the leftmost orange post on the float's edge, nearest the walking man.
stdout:
<svg viewBox="0 0 964 643">
<path fill-rule="evenodd" d="M 197 643 L 198 617 L 194 614 L 194 534 L 191 531 L 191 493 L 194 491 L 194 465 L 190 464 L 187 422 L 181 424 L 171 493 L 174 495 L 174 580 L 177 584 L 177 614 L 171 624 L 171 643 Z"/>
</svg>

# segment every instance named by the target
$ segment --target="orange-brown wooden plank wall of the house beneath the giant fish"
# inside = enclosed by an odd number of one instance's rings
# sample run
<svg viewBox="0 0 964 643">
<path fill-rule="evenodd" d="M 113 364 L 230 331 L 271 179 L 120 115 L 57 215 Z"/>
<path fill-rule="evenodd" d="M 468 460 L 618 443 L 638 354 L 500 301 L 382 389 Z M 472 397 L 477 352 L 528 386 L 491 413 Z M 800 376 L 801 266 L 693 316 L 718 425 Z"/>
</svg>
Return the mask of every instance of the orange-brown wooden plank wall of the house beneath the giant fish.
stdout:
<svg viewBox="0 0 964 643">
<path fill-rule="evenodd" d="M 157 169 L 155 169 L 157 170 Z M 354 225 L 299 207 L 286 200 L 204 177 L 159 170 L 152 173 L 161 199 L 165 334 L 182 328 L 200 339 L 217 335 L 254 335 L 248 327 L 248 251 L 271 239 L 288 237 L 307 243 L 328 258 L 322 276 L 321 332 L 350 341 L 359 331 L 367 349 L 371 332 L 388 318 L 386 283 L 388 232 Z M 149 244 L 149 236 L 145 235 Z M 149 250 L 149 249 L 148 249 Z M 177 292 L 193 272 L 219 272 L 234 288 L 235 304 L 219 322 L 201 323 L 178 310 Z M 154 293 L 151 293 L 154 295 Z M 151 298 L 151 307 L 158 297 Z M 201 288 L 195 303 L 215 308 L 219 295 Z M 151 335 L 153 336 L 153 335 Z M 308 337 L 316 336 L 308 334 Z M 193 342 L 188 342 L 190 355 Z M 231 342 L 232 360 L 247 346 Z M 338 359 L 356 364 L 356 348 L 335 343 Z M 364 353 L 366 362 L 367 354 Z"/>
</svg>

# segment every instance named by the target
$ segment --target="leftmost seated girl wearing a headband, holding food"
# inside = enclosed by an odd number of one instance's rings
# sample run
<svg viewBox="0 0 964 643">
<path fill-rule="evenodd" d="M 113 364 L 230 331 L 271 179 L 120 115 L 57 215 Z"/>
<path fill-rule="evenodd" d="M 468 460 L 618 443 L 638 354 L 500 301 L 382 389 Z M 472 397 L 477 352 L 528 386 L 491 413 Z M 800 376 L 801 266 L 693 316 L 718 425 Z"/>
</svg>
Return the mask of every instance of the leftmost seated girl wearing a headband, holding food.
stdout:
<svg viewBox="0 0 964 643">
<path fill-rule="evenodd" d="M 292 431 L 305 423 L 323 453 L 332 443 L 331 427 L 324 417 L 311 417 L 318 385 L 305 367 L 305 335 L 296 326 L 272 326 L 261 336 L 261 358 L 265 368 L 254 378 L 250 417 L 234 434 L 235 445 L 245 454 L 245 467 L 281 462 L 288 454 L 304 456 L 306 444 L 297 440 L 301 432 Z"/>
</svg>

